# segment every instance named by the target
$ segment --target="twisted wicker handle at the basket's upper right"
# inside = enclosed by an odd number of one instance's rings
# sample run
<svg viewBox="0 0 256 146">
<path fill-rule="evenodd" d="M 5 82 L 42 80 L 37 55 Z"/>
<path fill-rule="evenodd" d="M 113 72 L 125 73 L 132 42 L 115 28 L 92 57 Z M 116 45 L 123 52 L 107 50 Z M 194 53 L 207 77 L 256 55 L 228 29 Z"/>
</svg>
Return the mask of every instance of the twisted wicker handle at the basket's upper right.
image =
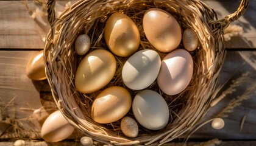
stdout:
<svg viewBox="0 0 256 146">
<path fill-rule="evenodd" d="M 240 16 L 242 16 L 244 12 L 246 12 L 246 9 L 248 8 L 248 6 L 249 6 L 249 0 L 242 0 L 236 12 L 230 15 L 227 15 L 223 19 L 211 20 L 209 21 L 209 23 L 212 24 L 215 28 L 222 27 L 222 29 L 224 30 L 227 28 L 227 26 L 229 26 L 230 23 L 240 18 Z"/>
</svg>

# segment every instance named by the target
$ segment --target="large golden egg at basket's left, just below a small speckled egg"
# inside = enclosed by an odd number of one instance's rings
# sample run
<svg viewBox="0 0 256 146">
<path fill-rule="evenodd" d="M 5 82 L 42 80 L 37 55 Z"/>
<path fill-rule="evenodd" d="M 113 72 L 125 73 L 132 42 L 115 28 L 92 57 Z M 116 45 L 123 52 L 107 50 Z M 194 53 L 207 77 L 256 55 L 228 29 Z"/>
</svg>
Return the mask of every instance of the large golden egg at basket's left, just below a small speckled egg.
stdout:
<svg viewBox="0 0 256 146">
<path fill-rule="evenodd" d="M 116 59 L 107 50 L 93 50 L 80 62 L 75 77 L 76 89 L 91 93 L 107 85 L 115 75 Z"/>
</svg>

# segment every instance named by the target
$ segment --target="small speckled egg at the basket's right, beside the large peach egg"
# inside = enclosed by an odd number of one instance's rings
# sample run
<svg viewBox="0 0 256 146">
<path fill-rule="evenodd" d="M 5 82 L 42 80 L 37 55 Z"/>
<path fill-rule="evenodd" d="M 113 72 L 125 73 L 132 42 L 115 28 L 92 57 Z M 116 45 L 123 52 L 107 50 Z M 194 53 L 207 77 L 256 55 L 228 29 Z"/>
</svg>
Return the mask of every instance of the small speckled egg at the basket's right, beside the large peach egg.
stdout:
<svg viewBox="0 0 256 146">
<path fill-rule="evenodd" d="M 195 50 L 198 46 L 198 38 L 196 32 L 194 32 L 192 29 L 186 29 L 182 33 L 182 43 L 185 49 L 188 51 Z"/>
</svg>

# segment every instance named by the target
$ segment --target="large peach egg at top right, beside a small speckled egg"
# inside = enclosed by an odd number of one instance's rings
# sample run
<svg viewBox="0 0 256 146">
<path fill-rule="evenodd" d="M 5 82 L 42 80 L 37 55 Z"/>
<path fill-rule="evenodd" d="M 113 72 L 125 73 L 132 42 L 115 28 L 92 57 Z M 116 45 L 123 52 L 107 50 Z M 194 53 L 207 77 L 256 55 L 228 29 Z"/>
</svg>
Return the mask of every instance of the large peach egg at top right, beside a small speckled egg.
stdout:
<svg viewBox="0 0 256 146">
<path fill-rule="evenodd" d="M 177 20 L 162 9 L 149 9 L 143 17 L 143 29 L 148 41 L 161 52 L 176 49 L 182 39 Z"/>
</svg>

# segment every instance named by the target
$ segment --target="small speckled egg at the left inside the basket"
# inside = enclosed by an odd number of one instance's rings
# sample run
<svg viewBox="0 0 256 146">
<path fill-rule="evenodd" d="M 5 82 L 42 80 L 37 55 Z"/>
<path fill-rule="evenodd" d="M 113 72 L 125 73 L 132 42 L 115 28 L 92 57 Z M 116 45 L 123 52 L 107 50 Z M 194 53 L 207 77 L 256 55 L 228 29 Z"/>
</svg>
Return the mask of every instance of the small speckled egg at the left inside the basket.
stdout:
<svg viewBox="0 0 256 146">
<path fill-rule="evenodd" d="M 88 35 L 82 34 L 76 38 L 75 50 L 77 54 L 79 55 L 86 54 L 90 50 L 90 47 L 91 47 L 91 39 Z"/>
</svg>

